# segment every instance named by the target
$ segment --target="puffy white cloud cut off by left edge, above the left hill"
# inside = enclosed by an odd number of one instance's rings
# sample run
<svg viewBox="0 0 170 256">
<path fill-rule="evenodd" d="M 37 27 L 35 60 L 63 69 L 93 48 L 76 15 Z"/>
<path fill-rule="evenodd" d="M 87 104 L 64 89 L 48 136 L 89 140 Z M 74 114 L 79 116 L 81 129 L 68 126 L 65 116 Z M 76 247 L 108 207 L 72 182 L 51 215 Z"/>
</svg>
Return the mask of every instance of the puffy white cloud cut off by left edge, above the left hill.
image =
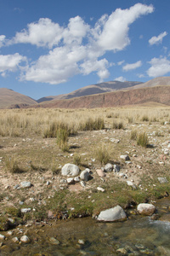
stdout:
<svg viewBox="0 0 170 256">
<path fill-rule="evenodd" d="M 0 55 L 0 73 L 4 77 L 7 72 L 17 71 L 22 61 L 26 61 L 26 57 L 18 53 L 14 55 Z"/>
</svg>

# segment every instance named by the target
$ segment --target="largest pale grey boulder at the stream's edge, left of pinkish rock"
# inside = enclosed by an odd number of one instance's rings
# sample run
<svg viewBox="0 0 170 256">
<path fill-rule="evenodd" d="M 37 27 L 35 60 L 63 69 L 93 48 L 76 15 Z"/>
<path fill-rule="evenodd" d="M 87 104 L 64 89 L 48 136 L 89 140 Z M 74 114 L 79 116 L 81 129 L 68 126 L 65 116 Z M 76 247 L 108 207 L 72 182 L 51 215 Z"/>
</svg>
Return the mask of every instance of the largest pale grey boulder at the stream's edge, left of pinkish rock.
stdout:
<svg viewBox="0 0 170 256">
<path fill-rule="evenodd" d="M 118 221 L 124 220 L 127 218 L 126 213 L 120 206 L 113 207 L 111 209 L 107 209 L 99 213 L 97 220 L 99 221 Z"/>
</svg>

